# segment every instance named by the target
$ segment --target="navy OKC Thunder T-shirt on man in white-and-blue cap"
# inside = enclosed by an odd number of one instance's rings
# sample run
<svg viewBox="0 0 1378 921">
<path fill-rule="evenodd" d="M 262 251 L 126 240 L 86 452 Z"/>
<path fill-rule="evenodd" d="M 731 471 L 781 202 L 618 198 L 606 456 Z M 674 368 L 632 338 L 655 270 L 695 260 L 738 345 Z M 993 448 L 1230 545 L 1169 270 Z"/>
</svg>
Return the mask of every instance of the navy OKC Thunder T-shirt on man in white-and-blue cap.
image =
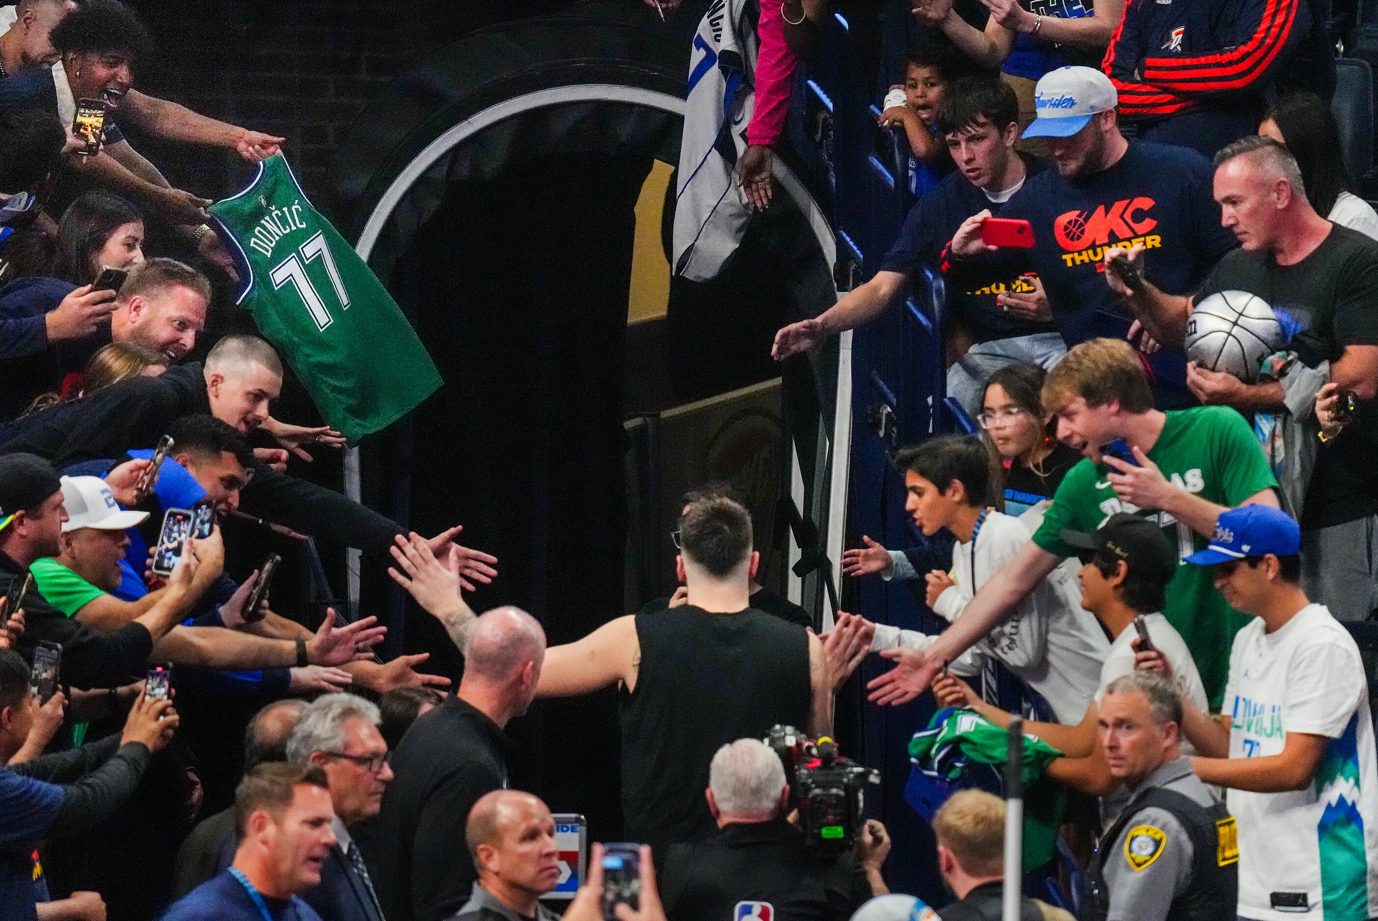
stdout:
<svg viewBox="0 0 1378 921">
<path fill-rule="evenodd" d="M 1167 294 L 1196 291 L 1235 248 L 1235 234 L 1220 225 L 1213 176 L 1195 150 L 1130 141 L 1109 170 L 1080 181 L 1045 170 L 1005 205 L 1002 218 L 1034 225 L 1029 254 L 1068 347 L 1129 332 L 1133 317 L 1105 284 L 1107 247 L 1142 244 L 1144 273 Z"/>
</svg>

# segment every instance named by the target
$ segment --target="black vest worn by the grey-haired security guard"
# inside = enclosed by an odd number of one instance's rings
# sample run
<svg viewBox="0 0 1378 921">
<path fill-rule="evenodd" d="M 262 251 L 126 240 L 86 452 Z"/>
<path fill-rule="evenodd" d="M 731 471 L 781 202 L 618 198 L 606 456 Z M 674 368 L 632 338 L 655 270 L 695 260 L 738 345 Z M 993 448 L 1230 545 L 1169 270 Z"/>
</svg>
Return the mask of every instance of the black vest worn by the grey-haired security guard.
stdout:
<svg viewBox="0 0 1378 921">
<path fill-rule="evenodd" d="M 1091 860 L 1089 874 L 1096 893 L 1091 918 L 1105 918 L 1109 910 L 1105 862 L 1119 851 L 1120 833 L 1148 807 L 1171 812 L 1192 840 L 1191 885 L 1173 899 L 1166 921 L 1233 921 L 1239 907 L 1239 841 L 1229 809 L 1222 802 L 1203 807 L 1188 796 L 1162 787 L 1140 791 L 1101 837 L 1101 848 Z"/>
</svg>

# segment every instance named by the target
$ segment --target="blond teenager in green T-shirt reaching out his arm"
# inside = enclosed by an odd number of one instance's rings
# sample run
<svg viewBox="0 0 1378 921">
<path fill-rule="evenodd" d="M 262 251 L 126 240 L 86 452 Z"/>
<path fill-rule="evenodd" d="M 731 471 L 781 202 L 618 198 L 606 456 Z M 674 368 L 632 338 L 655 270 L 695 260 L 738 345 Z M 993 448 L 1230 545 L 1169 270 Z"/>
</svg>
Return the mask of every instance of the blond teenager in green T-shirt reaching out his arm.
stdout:
<svg viewBox="0 0 1378 921">
<path fill-rule="evenodd" d="M 1076 550 L 1062 531 L 1094 531 L 1116 512 L 1158 521 L 1184 558 L 1206 546 L 1225 509 L 1277 506 L 1277 481 L 1248 423 L 1224 407 L 1175 412 L 1153 408 L 1134 349 L 1120 339 L 1091 339 L 1049 372 L 1043 405 L 1057 414 L 1057 437 L 1084 455 L 1062 480 L 1042 527 L 992 576 L 962 616 L 927 649 L 881 655 L 896 667 L 871 681 L 871 699 L 904 703 L 922 694 L 945 662 L 998 626 L 1064 557 Z M 1122 440 L 1134 463 L 1101 455 Z M 1186 640 L 1211 706 L 1220 706 L 1229 648 L 1246 618 L 1225 603 L 1200 567 L 1178 565 L 1163 615 Z"/>
</svg>

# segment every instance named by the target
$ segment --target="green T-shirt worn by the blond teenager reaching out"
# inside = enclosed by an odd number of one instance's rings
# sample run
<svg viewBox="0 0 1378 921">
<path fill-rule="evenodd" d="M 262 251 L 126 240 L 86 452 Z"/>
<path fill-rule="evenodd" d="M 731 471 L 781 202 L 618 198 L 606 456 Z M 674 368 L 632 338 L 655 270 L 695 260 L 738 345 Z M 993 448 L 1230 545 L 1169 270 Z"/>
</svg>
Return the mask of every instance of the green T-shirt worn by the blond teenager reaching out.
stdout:
<svg viewBox="0 0 1378 921">
<path fill-rule="evenodd" d="M 1207 502 L 1235 507 L 1250 496 L 1277 487 L 1277 480 L 1264 458 L 1253 430 L 1235 409 L 1197 407 L 1167 414 L 1148 459 L 1159 466 L 1173 485 Z M 1076 554 L 1062 543 L 1062 531 L 1094 531 L 1118 512 L 1141 512 L 1120 502 L 1105 478 L 1107 469 L 1083 459 L 1072 467 L 1043 524 L 1034 534 L 1034 543 L 1060 557 Z M 1145 512 L 1156 518 L 1178 557 L 1203 550 L 1207 539 L 1166 512 Z M 1239 614 L 1215 590 L 1211 567 L 1181 564 L 1167 586 L 1163 616 L 1177 627 L 1192 651 L 1202 684 L 1213 707 L 1218 707 L 1229 676 L 1229 648 L 1248 618 Z"/>
</svg>

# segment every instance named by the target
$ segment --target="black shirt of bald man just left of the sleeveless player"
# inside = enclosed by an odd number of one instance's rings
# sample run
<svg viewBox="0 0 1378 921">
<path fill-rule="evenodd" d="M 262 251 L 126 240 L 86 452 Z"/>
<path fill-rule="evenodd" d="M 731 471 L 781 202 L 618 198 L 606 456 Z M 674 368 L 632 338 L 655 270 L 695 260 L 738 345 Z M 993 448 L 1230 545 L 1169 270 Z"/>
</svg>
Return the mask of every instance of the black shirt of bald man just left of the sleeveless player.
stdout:
<svg viewBox="0 0 1378 921">
<path fill-rule="evenodd" d="M 438 921 L 457 911 L 477 874 L 464 841 L 469 811 L 507 786 L 511 743 L 456 696 L 423 714 L 393 754 L 383 794 L 373 887 L 389 921 Z"/>
</svg>

